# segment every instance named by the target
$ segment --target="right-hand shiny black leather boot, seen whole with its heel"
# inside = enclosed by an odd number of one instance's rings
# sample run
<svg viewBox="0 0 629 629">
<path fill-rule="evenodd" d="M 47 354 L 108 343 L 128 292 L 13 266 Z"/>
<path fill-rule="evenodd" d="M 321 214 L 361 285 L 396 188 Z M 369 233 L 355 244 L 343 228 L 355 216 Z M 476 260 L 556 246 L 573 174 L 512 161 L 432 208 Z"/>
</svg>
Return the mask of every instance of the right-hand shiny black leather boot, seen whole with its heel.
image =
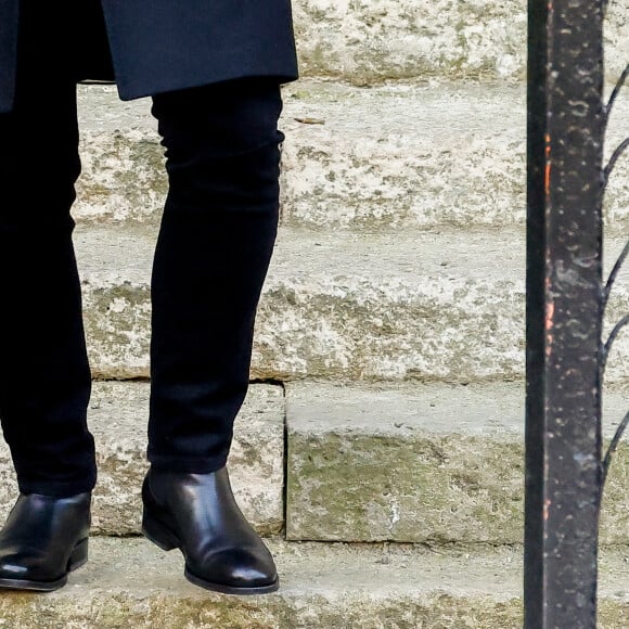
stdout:
<svg viewBox="0 0 629 629">
<path fill-rule="evenodd" d="M 226 467 L 210 474 L 151 470 L 142 499 L 142 532 L 163 550 L 181 550 L 192 583 L 227 594 L 279 588 L 273 557 L 235 503 Z"/>
</svg>

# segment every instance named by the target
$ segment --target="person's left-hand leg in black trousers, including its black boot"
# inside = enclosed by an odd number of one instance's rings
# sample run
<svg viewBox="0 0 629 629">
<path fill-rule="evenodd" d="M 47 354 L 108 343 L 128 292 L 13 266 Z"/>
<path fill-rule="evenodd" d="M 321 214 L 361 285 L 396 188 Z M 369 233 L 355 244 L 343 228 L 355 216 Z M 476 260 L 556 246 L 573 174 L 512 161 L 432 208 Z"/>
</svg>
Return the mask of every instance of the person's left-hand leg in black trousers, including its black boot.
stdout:
<svg viewBox="0 0 629 629">
<path fill-rule="evenodd" d="M 44 7 L 22 2 L 15 107 L 0 115 L 0 419 L 21 491 L 0 531 L 0 587 L 33 590 L 87 560 L 95 482 L 69 215 L 76 86 Z"/>
</svg>

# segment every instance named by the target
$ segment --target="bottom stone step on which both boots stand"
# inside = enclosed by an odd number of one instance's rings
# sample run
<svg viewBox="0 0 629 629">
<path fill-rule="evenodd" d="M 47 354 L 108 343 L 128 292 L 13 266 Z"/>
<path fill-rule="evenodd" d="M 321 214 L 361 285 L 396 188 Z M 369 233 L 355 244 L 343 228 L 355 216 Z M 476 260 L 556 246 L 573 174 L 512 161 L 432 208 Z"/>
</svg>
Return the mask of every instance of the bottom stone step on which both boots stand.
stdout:
<svg viewBox="0 0 629 629">
<path fill-rule="evenodd" d="M 271 542 L 280 590 L 229 596 L 190 585 L 179 553 L 92 540 L 90 561 L 50 594 L 0 596 L 8 627 L 38 629 L 411 629 L 522 626 L 519 549 Z M 601 629 L 627 627 L 626 549 L 601 559 Z"/>
</svg>

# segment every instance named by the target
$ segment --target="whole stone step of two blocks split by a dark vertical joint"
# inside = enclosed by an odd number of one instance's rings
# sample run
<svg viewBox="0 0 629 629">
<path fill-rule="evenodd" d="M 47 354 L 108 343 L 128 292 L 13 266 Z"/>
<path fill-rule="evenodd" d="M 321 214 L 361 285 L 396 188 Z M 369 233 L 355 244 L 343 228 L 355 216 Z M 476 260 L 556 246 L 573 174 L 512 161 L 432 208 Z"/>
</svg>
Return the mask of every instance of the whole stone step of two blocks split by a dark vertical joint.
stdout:
<svg viewBox="0 0 629 629">
<path fill-rule="evenodd" d="M 517 544 L 523 389 L 288 383 L 284 398 L 282 387 L 253 385 L 229 461 L 236 498 L 261 534 L 285 528 L 293 541 Z M 140 531 L 147 394 L 145 383 L 94 383 L 94 534 Z M 607 439 L 628 408 L 629 389 L 607 391 Z M 2 445 L 0 522 L 15 500 L 13 476 Z M 603 544 L 629 542 L 628 482 L 621 444 L 605 490 Z"/>
</svg>

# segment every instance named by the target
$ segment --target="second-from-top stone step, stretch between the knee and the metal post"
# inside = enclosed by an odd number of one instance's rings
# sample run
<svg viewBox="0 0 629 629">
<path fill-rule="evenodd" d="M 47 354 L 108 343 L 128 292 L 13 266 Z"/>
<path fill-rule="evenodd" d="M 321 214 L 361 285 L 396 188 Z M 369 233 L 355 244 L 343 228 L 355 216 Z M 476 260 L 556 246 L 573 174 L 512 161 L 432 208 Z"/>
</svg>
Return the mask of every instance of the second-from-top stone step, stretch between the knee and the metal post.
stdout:
<svg viewBox="0 0 629 629">
<path fill-rule="evenodd" d="M 288 87 L 284 100 L 284 224 L 376 230 L 523 221 L 521 89 L 307 82 Z M 297 121 L 309 119 L 322 124 Z"/>
</svg>

